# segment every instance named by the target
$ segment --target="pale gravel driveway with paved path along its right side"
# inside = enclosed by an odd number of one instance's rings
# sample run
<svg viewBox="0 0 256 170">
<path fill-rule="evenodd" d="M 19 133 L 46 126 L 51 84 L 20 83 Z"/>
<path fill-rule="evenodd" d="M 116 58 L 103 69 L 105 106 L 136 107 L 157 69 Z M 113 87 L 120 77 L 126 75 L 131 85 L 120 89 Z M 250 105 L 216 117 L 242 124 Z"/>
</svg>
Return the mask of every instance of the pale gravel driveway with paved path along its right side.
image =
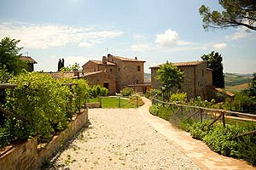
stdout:
<svg viewBox="0 0 256 170">
<path fill-rule="evenodd" d="M 47 169 L 255 169 L 138 109 L 90 109 L 85 128 Z"/>
</svg>

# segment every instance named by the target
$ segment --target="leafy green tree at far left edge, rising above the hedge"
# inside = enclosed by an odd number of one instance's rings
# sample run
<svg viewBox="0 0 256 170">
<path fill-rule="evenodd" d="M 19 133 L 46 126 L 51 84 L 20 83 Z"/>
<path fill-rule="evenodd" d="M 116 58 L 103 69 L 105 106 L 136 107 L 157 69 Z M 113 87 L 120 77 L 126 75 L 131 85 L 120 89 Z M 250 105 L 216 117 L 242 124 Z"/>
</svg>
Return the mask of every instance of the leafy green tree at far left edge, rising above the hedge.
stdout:
<svg viewBox="0 0 256 170">
<path fill-rule="evenodd" d="M 0 65 L 6 68 L 9 73 L 19 74 L 22 69 L 26 68 L 26 62 L 19 59 L 20 49 L 17 44 L 20 40 L 4 37 L 0 42 Z"/>
</svg>

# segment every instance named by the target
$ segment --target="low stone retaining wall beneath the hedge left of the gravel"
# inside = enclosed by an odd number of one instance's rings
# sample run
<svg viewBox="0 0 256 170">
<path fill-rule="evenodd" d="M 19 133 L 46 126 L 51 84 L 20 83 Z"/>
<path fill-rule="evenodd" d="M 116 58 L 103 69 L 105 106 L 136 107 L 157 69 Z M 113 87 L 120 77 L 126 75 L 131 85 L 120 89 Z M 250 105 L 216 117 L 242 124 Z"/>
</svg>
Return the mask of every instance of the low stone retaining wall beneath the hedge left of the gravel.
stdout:
<svg viewBox="0 0 256 170">
<path fill-rule="evenodd" d="M 88 109 L 78 114 L 70 126 L 54 136 L 44 147 L 38 150 L 38 138 L 28 139 L 22 144 L 15 144 L 13 148 L 0 156 L 0 170 L 38 169 L 53 156 L 68 139 L 85 126 L 88 121 Z"/>
</svg>

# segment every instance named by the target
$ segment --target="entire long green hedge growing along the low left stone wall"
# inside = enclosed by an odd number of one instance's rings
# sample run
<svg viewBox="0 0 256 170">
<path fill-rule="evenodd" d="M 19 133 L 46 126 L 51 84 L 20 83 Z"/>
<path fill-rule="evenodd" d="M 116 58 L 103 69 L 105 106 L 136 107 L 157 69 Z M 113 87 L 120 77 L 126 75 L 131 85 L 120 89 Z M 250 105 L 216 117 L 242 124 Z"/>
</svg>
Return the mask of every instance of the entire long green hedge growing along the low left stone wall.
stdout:
<svg viewBox="0 0 256 170">
<path fill-rule="evenodd" d="M 27 73 L 9 80 L 17 84 L 7 89 L 6 109 L 14 116 L 3 115 L 0 125 L 0 147 L 13 139 L 28 139 L 39 134 L 39 141 L 48 141 L 56 131 L 63 130 L 71 121 L 72 113 L 86 100 L 88 85 L 84 80 L 66 80 L 78 83 L 69 88 L 48 74 Z M 8 134 L 8 135 L 7 135 Z"/>
</svg>

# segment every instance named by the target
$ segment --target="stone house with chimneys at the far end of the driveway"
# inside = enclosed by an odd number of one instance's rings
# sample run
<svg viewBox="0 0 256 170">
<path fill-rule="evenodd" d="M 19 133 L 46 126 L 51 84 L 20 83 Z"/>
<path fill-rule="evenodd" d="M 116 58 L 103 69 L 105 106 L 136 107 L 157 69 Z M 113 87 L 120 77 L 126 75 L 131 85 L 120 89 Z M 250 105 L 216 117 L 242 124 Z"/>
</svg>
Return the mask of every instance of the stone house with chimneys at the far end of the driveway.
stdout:
<svg viewBox="0 0 256 170">
<path fill-rule="evenodd" d="M 83 77 L 91 85 L 108 88 L 109 94 L 120 92 L 128 85 L 144 83 L 144 62 L 108 54 L 102 60 L 89 60 L 83 67 Z"/>
</svg>

